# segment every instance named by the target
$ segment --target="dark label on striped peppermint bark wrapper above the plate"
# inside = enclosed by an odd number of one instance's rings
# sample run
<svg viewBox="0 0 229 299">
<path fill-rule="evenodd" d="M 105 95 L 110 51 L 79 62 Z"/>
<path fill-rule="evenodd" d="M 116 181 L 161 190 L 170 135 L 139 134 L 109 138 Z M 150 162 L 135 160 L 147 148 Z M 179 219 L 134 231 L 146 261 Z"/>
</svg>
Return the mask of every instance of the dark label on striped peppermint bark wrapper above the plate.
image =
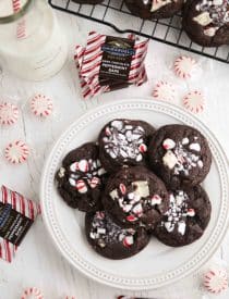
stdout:
<svg viewBox="0 0 229 299">
<path fill-rule="evenodd" d="M 128 38 L 107 36 L 101 46 L 100 83 L 106 79 L 128 82 L 132 57 L 135 54 L 134 43 L 134 40 Z"/>
</svg>

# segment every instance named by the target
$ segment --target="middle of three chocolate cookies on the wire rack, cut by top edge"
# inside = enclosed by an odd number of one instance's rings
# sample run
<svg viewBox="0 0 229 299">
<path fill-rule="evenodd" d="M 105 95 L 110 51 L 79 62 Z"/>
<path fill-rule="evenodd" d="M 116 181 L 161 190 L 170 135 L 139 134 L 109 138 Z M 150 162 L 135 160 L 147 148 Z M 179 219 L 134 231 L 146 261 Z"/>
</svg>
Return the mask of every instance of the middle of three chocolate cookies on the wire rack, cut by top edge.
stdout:
<svg viewBox="0 0 229 299">
<path fill-rule="evenodd" d="M 183 0 L 125 0 L 129 10 L 142 18 L 166 18 L 182 9 Z"/>
</svg>

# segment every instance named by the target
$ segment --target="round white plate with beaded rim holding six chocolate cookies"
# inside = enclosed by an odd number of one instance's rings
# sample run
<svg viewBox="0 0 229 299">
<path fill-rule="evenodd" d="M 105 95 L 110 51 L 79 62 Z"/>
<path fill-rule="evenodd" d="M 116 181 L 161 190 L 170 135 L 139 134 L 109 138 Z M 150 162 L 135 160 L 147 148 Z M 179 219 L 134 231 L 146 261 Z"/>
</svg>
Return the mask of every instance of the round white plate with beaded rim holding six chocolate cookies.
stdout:
<svg viewBox="0 0 229 299">
<path fill-rule="evenodd" d="M 112 261 L 98 256 L 84 235 L 84 214 L 69 208 L 58 195 L 55 174 L 64 155 L 85 141 L 96 140 L 100 128 L 114 117 L 144 120 L 159 127 L 182 123 L 200 129 L 209 142 L 213 165 L 204 182 L 213 213 L 204 236 L 196 242 L 170 248 L 152 238 L 133 258 Z M 53 147 L 41 179 L 43 216 L 57 248 L 76 269 L 103 284 L 125 289 L 152 289 L 180 279 L 201 267 L 219 247 L 228 221 L 227 159 L 213 134 L 183 110 L 149 99 L 117 101 L 93 110 L 76 121 Z"/>
</svg>

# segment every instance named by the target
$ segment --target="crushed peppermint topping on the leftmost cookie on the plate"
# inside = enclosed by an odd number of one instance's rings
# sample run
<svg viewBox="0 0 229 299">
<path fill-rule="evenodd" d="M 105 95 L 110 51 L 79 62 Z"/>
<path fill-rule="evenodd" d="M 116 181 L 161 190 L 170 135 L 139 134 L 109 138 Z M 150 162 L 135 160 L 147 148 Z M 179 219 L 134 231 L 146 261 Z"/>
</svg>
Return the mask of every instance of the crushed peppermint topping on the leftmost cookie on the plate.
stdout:
<svg viewBox="0 0 229 299">
<path fill-rule="evenodd" d="M 75 187 L 80 194 L 86 194 L 89 188 L 94 189 L 100 185 L 100 178 L 106 173 L 98 159 L 82 159 L 72 163 L 69 170 L 71 172 L 69 183 Z M 59 176 L 60 175 L 61 173 L 59 172 Z"/>
</svg>

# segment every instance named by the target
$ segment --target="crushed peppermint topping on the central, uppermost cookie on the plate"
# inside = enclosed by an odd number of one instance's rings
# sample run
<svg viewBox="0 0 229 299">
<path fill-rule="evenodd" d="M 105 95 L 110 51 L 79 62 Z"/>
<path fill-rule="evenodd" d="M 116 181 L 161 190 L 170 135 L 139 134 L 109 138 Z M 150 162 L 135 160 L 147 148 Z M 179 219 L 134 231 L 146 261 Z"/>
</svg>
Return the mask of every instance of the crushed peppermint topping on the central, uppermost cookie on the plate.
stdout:
<svg viewBox="0 0 229 299">
<path fill-rule="evenodd" d="M 119 188 L 113 189 L 109 195 L 112 200 L 118 201 L 119 207 L 126 213 L 125 220 L 128 222 L 137 221 L 143 215 L 144 209 L 152 209 L 162 202 L 159 195 L 150 197 L 147 180 L 136 180 L 130 186 L 120 184 Z"/>
</svg>

